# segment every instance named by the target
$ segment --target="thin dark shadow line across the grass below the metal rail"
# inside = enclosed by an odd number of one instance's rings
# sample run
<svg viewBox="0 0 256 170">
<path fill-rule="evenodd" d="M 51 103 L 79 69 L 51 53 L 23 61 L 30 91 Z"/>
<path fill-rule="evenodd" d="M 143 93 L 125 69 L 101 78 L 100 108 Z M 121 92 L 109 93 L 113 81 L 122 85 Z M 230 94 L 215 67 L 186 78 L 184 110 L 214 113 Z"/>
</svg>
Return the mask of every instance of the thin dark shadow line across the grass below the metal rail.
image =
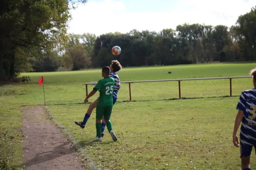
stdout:
<svg viewBox="0 0 256 170">
<path fill-rule="evenodd" d="M 168 100 L 188 100 L 188 99 L 215 99 L 215 98 L 232 98 L 232 97 L 239 97 L 239 96 L 212 96 L 212 97 L 182 97 L 182 98 L 170 98 L 170 99 L 156 99 L 156 100 L 125 100 L 125 101 L 117 101 L 116 103 L 125 103 L 125 102 L 157 102 L 157 101 L 168 101 Z M 90 104 L 89 102 L 88 104 Z M 58 104 L 49 104 L 47 106 L 58 106 L 58 105 L 84 105 L 84 103 L 58 103 Z M 24 106 L 35 106 L 35 105 L 21 105 Z M 38 105 L 38 106 L 44 106 L 44 105 Z"/>
</svg>

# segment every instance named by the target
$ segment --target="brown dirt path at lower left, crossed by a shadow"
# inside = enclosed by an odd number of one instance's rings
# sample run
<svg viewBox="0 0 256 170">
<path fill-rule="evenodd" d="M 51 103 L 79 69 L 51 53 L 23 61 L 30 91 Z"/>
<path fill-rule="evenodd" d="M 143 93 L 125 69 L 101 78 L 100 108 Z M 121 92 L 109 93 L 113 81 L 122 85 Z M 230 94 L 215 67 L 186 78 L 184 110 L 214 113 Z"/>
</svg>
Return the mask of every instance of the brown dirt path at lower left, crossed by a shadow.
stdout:
<svg viewBox="0 0 256 170">
<path fill-rule="evenodd" d="M 28 170 L 84 170 L 71 143 L 47 119 L 44 107 L 27 107 L 23 119 L 23 164 Z"/>
</svg>

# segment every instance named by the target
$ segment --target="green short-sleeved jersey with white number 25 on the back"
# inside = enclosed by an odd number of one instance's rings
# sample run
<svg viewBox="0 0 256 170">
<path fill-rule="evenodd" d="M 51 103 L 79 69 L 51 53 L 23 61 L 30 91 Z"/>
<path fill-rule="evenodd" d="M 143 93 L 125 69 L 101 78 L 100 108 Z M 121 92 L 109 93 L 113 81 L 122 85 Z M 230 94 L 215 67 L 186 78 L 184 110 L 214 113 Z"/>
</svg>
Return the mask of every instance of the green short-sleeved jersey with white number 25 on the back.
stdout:
<svg viewBox="0 0 256 170">
<path fill-rule="evenodd" d="M 112 106 L 113 105 L 113 90 L 115 80 L 112 77 L 105 77 L 100 79 L 93 90 L 99 92 L 98 106 Z"/>
</svg>

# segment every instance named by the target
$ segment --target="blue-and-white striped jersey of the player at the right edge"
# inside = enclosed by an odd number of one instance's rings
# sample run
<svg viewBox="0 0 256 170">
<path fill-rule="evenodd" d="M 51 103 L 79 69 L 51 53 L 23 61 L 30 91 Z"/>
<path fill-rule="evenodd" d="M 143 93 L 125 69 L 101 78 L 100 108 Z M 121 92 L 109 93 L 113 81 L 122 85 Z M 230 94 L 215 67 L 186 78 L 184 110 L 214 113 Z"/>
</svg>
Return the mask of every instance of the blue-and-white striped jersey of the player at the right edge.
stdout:
<svg viewBox="0 0 256 170">
<path fill-rule="evenodd" d="M 256 88 L 241 93 L 236 109 L 244 111 L 240 142 L 256 146 Z"/>
</svg>

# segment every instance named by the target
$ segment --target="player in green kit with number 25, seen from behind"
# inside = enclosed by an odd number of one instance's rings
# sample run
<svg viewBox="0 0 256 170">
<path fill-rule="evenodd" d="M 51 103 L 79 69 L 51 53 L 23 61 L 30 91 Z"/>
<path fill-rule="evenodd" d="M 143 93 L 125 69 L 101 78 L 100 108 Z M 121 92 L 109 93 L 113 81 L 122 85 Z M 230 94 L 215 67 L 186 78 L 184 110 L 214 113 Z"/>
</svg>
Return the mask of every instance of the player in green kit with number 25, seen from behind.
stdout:
<svg viewBox="0 0 256 170">
<path fill-rule="evenodd" d="M 101 142 L 102 141 L 102 116 L 104 116 L 104 120 L 106 122 L 106 126 L 108 128 L 109 133 L 114 142 L 117 141 L 116 135 L 113 132 L 112 123 L 110 122 L 110 116 L 112 113 L 113 106 L 113 90 L 115 85 L 115 80 L 109 76 L 110 68 L 103 67 L 102 68 L 102 77 L 104 79 L 100 79 L 97 85 L 93 88 L 93 91 L 84 99 L 84 103 L 88 103 L 88 99 L 93 96 L 97 91 L 99 92 L 99 100 L 96 107 L 96 132 L 97 136 L 93 139 L 93 142 Z"/>
</svg>

